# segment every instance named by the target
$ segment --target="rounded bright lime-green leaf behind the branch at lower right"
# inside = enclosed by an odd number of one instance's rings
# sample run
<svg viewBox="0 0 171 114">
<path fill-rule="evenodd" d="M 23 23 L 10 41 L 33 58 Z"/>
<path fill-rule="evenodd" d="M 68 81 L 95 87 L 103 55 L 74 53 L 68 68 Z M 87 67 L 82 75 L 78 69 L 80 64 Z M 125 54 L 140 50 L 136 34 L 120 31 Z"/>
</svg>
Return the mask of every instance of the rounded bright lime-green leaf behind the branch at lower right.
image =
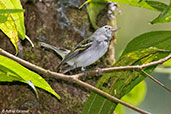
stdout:
<svg viewBox="0 0 171 114">
<path fill-rule="evenodd" d="M 146 95 L 146 83 L 145 81 L 140 82 L 136 85 L 128 94 L 121 98 L 122 101 L 125 101 L 133 106 L 138 106 Z M 121 104 L 118 104 L 115 110 L 117 114 L 124 114 Z"/>
</svg>

